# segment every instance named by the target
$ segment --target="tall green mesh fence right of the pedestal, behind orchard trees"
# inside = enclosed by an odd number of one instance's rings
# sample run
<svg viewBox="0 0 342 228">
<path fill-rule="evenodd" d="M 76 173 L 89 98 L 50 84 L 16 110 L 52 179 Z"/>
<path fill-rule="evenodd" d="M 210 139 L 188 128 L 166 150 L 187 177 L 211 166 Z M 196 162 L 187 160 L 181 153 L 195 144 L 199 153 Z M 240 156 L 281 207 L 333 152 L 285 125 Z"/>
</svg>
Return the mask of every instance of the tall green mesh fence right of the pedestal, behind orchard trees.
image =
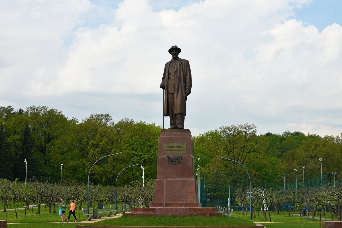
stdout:
<svg viewBox="0 0 342 228">
<path fill-rule="evenodd" d="M 249 192 L 249 177 L 245 174 L 225 174 L 228 178 L 230 184 L 230 199 L 229 199 L 229 185 L 227 179 L 220 173 L 214 174 L 204 174 L 200 182 L 200 202 L 202 207 L 215 207 L 215 206 L 228 206 L 230 201 L 230 206 L 235 207 L 239 210 L 236 198 L 238 197 L 235 193 L 236 188 L 242 187 Z M 331 175 L 332 176 L 332 175 Z M 321 178 L 323 179 L 323 184 L 332 183 L 333 177 L 328 174 L 304 174 L 304 188 L 309 187 L 321 187 Z M 285 179 L 285 182 L 284 182 Z M 338 180 L 340 182 L 340 180 Z M 338 182 L 336 180 L 336 183 Z M 342 180 L 341 180 L 342 181 Z M 251 175 L 251 186 L 252 187 L 272 187 L 278 189 L 303 189 L 303 174 L 297 174 L 297 186 L 296 186 L 296 175 L 295 174 L 285 174 L 284 175 Z M 282 205 L 283 211 L 287 211 L 290 205 L 284 203 Z M 272 208 L 271 208 L 272 210 Z"/>
</svg>

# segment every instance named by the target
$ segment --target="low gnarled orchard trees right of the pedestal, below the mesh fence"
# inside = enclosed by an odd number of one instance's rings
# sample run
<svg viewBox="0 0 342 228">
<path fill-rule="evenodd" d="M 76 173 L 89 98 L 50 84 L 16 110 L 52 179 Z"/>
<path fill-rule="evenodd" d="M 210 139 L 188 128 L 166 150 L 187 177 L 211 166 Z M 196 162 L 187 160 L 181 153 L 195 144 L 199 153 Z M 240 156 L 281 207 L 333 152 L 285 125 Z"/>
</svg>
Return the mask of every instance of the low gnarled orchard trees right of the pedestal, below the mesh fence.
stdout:
<svg viewBox="0 0 342 228">
<path fill-rule="evenodd" d="M 242 207 L 242 214 L 245 214 L 249 202 L 249 189 L 236 189 L 237 203 Z M 342 185 L 324 185 L 322 188 L 307 188 L 301 190 L 285 190 L 279 188 L 265 188 L 264 186 L 253 187 L 251 189 L 253 217 L 256 217 L 256 211 L 262 212 L 262 218 L 269 222 L 272 221 L 269 209 L 274 208 L 275 213 L 282 213 L 283 203 L 288 203 L 290 206 L 288 216 L 291 211 L 303 210 L 312 213 L 312 220 L 315 220 L 316 213 L 321 210 L 322 216 L 325 215 L 324 208 L 330 212 L 331 216 L 336 216 L 338 221 L 341 221 L 341 199 Z M 302 215 L 302 214 L 301 214 Z M 306 218 L 309 220 L 309 213 L 306 213 Z"/>
</svg>

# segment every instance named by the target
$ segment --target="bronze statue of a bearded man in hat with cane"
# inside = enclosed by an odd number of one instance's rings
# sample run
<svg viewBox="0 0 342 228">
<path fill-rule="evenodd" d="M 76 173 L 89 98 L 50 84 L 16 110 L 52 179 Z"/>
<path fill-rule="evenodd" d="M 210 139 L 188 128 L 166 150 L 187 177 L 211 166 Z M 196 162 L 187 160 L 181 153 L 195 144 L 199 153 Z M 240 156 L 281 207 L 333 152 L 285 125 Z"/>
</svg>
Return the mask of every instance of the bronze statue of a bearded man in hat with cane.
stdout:
<svg viewBox="0 0 342 228">
<path fill-rule="evenodd" d="M 184 129 L 186 116 L 185 101 L 191 93 L 191 71 L 189 61 L 181 59 L 181 49 L 176 45 L 169 49 L 172 55 L 170 62 L 165 64 L 160 88 L 165 89 L 164 116 L 170 117 L 169 129 Z"/>
</svg>

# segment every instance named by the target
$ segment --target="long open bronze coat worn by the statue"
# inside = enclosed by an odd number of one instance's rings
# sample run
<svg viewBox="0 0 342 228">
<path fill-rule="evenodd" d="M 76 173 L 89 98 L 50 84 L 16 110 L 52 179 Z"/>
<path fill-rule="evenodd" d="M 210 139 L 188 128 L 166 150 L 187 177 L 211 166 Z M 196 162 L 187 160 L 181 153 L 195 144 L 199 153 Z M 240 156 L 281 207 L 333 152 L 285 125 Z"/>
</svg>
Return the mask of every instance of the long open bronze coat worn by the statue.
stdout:
<svg viewBox="0 0 342 228">
<path fill-rule="evenodd" d="M 170 62 L 165 64 L 163 77 L 161 83 L 165 85 L 165 100 L 164 100 L 164 116 L 168 115 L 168 81 L 169 81 L 169 67 Z M 183 113 L 186 115 L 186 92 L 191 93 L 191 70 L 189 61 L 178 58 L 175 70 L 175 88 L 174 88 L 174 114 Z"/>
</svg>

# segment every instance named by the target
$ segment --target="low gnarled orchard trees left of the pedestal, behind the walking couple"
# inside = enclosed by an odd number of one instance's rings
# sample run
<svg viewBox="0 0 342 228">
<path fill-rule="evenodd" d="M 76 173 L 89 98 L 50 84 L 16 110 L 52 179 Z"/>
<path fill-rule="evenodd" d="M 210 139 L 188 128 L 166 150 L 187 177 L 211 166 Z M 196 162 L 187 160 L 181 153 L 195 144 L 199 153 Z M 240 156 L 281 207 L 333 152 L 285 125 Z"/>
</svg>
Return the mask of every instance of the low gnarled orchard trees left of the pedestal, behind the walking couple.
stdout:
<svg viewBox="0 0 342 228">
<path fill-rule="evenodd" d="M 117 202 L 131 203 L 135 207 L 139 206 L 139 202 L 149 205 L 153 201 L 153 191 L 154 180 L 152 179 L 145 180 L 145 183 L 136 180 L 117 189 L 115 189 L 115 186 L 90 184 L 89 205 L 97 206 L 96 203 L 113 204 L 115 203 L 115 197 Z M 20 182 L 18 179 L 0 179 L 0 202 L 3 205 L 3 212 L 6 212 L 6 219 L 8 209 L 14 209 L 17 218 L 19 202 L 24 202 L 25 216 L 27 210 L 30 210 L 27 213 L 28 216 L 33 215 L 35 210 L 33 206 L 37 207 L 35 214 L 40 214 L 42 204 L 45 204 L 44 213 L 46 213 L 46 207 L 48 207 L 48 213 L 56 213 L 56 206 L 58 206 L 62 198 L 67 202 L 66 210 L 70 206 L 68 204 L 69 200 L 75 200 L 80 217 L 81 208 L 87 208 L 88 204 L 87 183 L 71 182 L 67 185 L 60 185 L 60 183 L 53 182 L 50 179 L 37 180 L 32 178 L 27 183 Z M 99 209 L 101 210 L 101 208 Z"/>
</svg>

